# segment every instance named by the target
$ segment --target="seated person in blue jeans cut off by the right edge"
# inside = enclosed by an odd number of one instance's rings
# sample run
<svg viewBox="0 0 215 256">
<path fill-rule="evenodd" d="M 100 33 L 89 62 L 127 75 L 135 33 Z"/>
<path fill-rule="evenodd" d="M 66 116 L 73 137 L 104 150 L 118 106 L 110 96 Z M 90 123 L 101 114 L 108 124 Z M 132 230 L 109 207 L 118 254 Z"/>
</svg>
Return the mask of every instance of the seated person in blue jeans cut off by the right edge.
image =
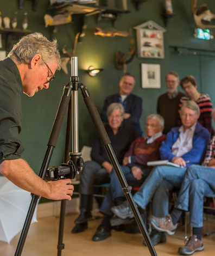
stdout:
<svg viewBox="0 0 215 256">
<path fill-rule="evenodd" d="M 215 112 L 213 112 L 215 121 Z M 175 233 L 182 211 L 190 211 L 189 225 L 193 227 L 193 235 L 189 237 L 185 246 L 179 248 L 178 253 L 191 255 L 204 250 L 201 227 L 203 227 L 204 196 L 215 193 L 215 136 L 207 147 L 203 166 L 192 165 L 187 168 L 182 181 L 178 199 L 170 214 L 162 218 L 152 216 L 151 224 L 159 231 L 169 235 Z"/>
</svg>

